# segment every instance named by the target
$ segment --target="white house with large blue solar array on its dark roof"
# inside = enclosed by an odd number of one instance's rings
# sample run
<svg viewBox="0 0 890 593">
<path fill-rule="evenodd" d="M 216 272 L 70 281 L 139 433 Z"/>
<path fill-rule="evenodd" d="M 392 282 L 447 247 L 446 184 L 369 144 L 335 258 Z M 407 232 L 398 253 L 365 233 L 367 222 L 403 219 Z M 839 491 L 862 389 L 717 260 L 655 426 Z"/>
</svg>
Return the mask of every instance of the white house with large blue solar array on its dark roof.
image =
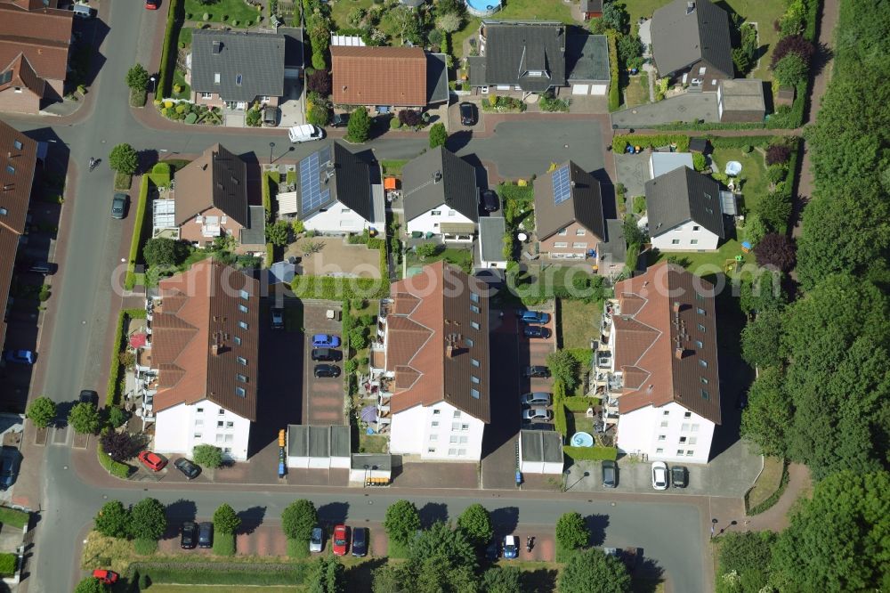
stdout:
<svg viewBox="0 0 890 593">
<path fill-rule="evenodd" d="M 278 196 L 279 215 L 303 221 L 309 231 L 383 232 L 383 188 L 372 183 L 368 163 L 340 142 L 331 142 L 303 158 L 297 175 L 295 191 Z"/>
</svg>

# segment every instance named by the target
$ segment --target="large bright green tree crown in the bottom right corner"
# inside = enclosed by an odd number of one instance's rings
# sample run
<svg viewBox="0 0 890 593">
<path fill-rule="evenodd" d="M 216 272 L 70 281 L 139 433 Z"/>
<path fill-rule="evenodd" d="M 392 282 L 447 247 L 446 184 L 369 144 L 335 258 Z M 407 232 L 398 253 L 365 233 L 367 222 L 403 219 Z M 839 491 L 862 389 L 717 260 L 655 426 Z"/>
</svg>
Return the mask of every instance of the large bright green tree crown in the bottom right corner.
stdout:
<svg viewBox="0 0 890 593">
<path fill-rule="evenodd" d="M 773 546 L 770 583 L 789 593 L 890 584 L 890 472 L 841 471 L 802 498 Z"/>
</svg>

